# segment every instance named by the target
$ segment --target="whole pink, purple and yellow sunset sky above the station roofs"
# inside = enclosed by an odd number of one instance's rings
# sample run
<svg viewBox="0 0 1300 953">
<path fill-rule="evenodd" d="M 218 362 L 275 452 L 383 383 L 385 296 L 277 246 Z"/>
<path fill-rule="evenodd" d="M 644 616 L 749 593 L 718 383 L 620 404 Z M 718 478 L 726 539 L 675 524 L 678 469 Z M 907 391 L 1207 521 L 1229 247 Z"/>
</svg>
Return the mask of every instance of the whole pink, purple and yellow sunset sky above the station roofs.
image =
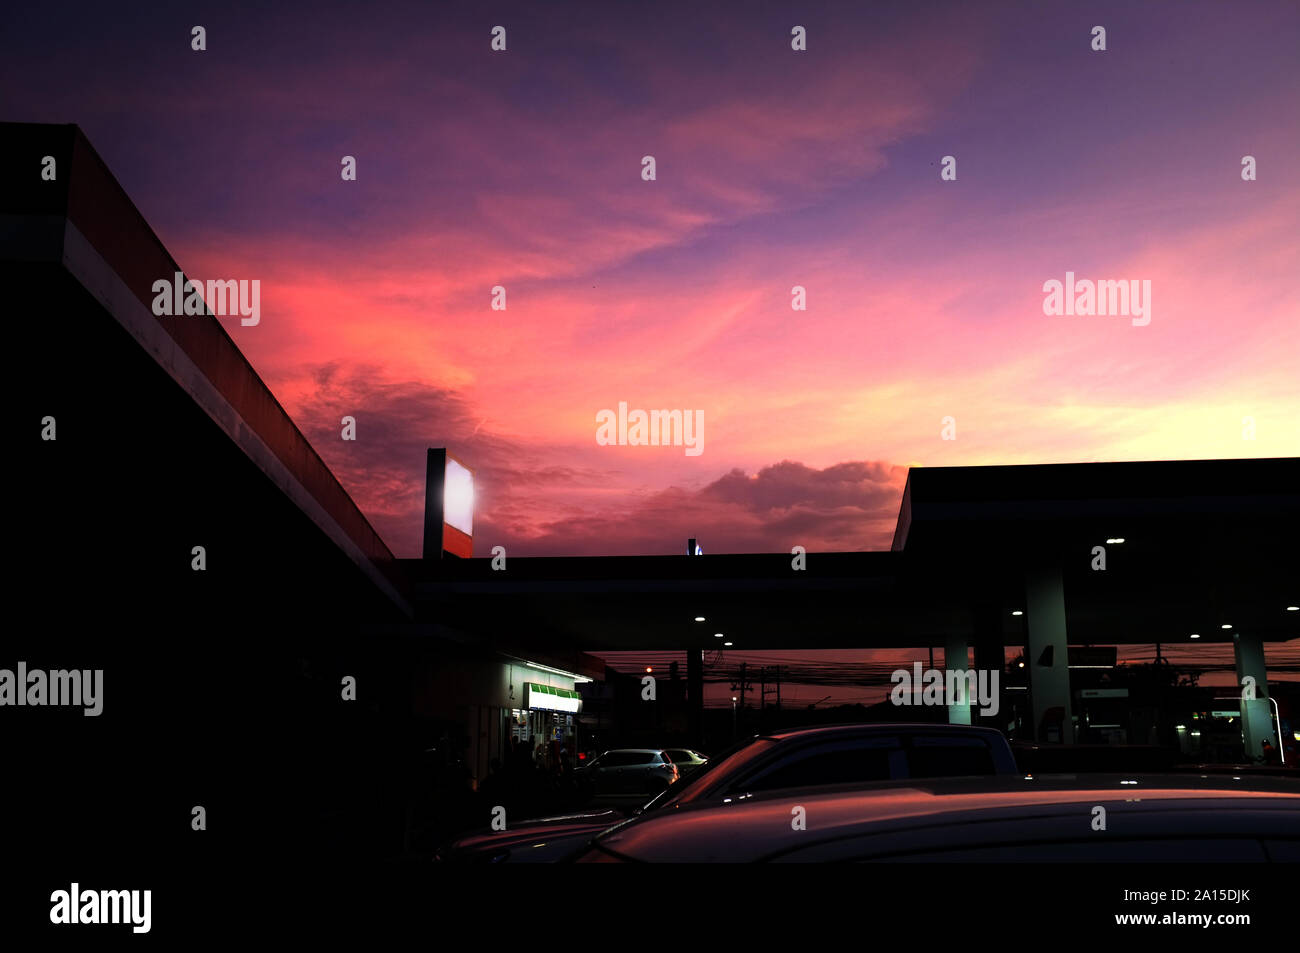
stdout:
<svg viewBox="0 0 1300 953">
<path fill-rule="evenodd" d="M 512 555 L 883 549 L 913 464 L 1300 452 L 1295 3 L 130 7 L 6 10 L 0 114 L 261 281 L 225 326 L 400 556 L 429 446 Z M 1150 324 L 1045 316 L 1067 270 Z M 703 452 L 599 446 L 620 400 Z"/>
</svg>

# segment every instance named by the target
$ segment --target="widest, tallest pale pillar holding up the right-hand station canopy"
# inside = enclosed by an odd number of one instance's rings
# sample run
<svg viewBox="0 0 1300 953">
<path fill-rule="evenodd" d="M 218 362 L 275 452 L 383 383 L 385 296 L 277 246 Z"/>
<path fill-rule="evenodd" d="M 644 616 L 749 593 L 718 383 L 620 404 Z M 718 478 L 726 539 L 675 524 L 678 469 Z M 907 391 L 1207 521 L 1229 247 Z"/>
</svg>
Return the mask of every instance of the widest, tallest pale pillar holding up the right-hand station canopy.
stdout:
<svg viewBox="0 0 1300 953">
<path fill-rule="evenodd" d="M 1061 719 L 1062 744 L 1074 744 L 1070 706 L 1070 649 L 1066 642 L 1065 584 L 1061 569 L 1030 569 L 1024 575 L 1024 611 L 1028 616 L 1026 664 L 1030 668 L 1030 703 L 1034 738 L 1048 741 L 1043 720 L 1048 712 Z"/>
</svg>

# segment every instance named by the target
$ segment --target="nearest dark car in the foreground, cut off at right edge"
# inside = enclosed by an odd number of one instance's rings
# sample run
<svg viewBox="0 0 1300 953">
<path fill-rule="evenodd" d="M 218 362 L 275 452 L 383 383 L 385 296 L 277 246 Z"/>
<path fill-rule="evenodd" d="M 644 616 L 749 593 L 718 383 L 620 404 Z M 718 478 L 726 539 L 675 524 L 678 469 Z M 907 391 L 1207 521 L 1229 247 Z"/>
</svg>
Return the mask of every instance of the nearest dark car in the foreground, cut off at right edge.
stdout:
<svg viewBox="0 0 1300 953">
<path fill-rule="evenodd" d="M 1096 824 L 1097 807 L 1105 809 L 1104 827 Z M 784 789 L 647 811 L 599 835 L 572 859 L 1296 862 L 1300 785 L 1154 774 Z"/>
</svg>

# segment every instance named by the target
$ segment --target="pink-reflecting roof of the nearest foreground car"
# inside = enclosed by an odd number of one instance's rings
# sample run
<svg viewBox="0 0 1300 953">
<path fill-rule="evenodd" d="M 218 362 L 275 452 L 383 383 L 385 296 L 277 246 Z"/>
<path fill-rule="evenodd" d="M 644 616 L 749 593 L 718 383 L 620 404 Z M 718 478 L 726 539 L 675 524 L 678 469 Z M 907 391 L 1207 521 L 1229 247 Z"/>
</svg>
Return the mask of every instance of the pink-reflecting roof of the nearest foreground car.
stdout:
<svg viewBox="0 0 1300 953">
<path fill-rule="evenodd" d="M 1300 832 L 1300 784 L 1238 777 L 1004 776 L 786 789 L 645 814 L 595 842 L 633 859 L 745 862 L 874 835 L 907 842 L 935 831 L 992 829 L 997 822 L 1015 827 L 1065 820 L 1074 829 L 1076 823 L 1087 827 L 1097 805 L 1110 814 L 1110 831 L 1123 831 L 1126 819 L 1130 829 L 1176 824 L 1183 811 L 1227 824 L 1234 813 L 1266 810 L 1277 816 L 1280 810 Z M 806 829 L 790 823 L 797 807 L 805 811 Z"/>
</svg>

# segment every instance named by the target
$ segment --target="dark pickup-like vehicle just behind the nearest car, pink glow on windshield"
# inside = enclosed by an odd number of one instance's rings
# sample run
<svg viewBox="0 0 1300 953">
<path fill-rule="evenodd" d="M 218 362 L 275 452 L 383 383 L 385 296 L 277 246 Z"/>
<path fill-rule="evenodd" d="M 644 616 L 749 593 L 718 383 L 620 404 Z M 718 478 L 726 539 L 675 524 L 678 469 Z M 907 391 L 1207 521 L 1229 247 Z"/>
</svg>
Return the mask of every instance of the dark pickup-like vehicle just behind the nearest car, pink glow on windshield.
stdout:
<svg viewBox="0 0 1300 953">
<path fill-rule="evenodd" d="M 798 728 L 744 738 L 630 814 L 586 811 L 514 826 L 508 831 L 478 832 L 446 845 L 436 859 L 554 861 L 628 816 L 693 803 L 723 803 L 741 794 L 790 784 L 941 775 L 1019 776 L 1010 745 L 992 728 L 952 724 Z"/>
</svg>

